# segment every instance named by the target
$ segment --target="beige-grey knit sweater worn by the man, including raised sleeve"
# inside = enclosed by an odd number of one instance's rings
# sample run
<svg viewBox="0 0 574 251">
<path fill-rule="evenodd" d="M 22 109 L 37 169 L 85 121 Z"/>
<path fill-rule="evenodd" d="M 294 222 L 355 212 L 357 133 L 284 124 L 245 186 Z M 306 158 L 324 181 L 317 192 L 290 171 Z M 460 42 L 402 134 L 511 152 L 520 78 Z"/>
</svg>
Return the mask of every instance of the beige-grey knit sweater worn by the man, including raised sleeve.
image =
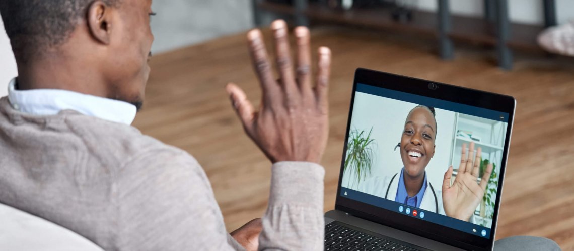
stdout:
<svg viewBox="0 0 574 251">
<path fill-rule="evenodd" d="M 308 162 L 272 166 L 260 249 L 323 249 L 323 177 Z M 0 99 L 0 203 L 106 250 L 242 249 L 187 152 L 72 110 L 20 113 L 7 98 Z"/>
</svg>

